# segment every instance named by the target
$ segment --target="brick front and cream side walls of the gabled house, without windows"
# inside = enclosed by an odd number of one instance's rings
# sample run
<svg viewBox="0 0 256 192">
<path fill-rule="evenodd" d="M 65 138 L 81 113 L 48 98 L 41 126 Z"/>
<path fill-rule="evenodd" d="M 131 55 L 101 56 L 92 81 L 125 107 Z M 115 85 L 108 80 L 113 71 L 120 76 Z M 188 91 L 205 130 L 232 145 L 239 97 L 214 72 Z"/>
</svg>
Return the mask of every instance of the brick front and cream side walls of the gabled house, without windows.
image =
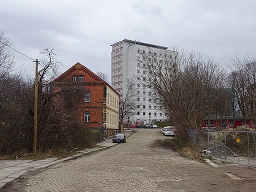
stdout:
<svg viewBox="0 0 256 192">
<path fill-rule="evenodd" d="M 82 81 L 73 82 L 74 76 L 83 76 Z M 84 122 L 84 112 L 90 113 L 90 121 L 86 122 L 88 127 L 90 128 L 98 128 L 106 126 L 109 130 L 118 129 L 118 123 L 111 123 L 107 124 L 106 119 L 106 110 L 111 110 L 111 114 L 116 116 L 116 122 L 118 122 L 118 101 L 119 95 L 118 93 L 113 90 L 110 85 L 108 85 L 105 81 L 99 78 L 96 74 L 90 71 L 85 66 L 81 65 L 80 63 L 74 64 L 68 70 L 63 72 L 60 76 L 58 76 L 54 83 L 79 83 L 79 85 L 84 88 L 87 92 L 90 92 L 90 101 L 85 102 L 81 100 L 79 105 L 76 107 L 77 110 L 77 118 Z M 108 103 L 107 100 L 107 93 L 111 95 L 113 100 L 116 100 L 115 103 Z M 100 123 L 99 123 L 100 122 Z M 104 124 L 103 124 L 104 123 Z M 115 130 L 113 130 L 115 131 Z"/>
</svg>

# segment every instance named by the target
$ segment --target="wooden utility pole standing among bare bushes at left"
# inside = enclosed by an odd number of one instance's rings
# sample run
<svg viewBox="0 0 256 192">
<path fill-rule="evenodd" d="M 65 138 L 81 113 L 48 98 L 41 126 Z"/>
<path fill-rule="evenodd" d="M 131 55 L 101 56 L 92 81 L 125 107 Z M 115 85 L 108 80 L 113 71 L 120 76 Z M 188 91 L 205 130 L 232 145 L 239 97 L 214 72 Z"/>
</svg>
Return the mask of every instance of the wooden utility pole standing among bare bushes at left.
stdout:
<svg viewBox="0 0 256 192">
<path fill-rule="evenodd" d="M 33 128 L 33 151 L 36 152 L 37 137 L 37 90 L 38 90 L 38 59 L 35 59 L 35 82 L 34 82 L 34 128 Z"/>
</svg>

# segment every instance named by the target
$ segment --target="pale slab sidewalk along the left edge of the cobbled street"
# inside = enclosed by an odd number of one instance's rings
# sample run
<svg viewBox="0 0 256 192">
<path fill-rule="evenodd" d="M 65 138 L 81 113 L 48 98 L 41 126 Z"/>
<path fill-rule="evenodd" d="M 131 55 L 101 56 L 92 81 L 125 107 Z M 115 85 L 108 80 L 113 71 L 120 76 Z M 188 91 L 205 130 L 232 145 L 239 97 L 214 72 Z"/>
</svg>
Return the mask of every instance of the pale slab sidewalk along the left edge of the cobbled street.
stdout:
<svg viewBox="0 0 256 192">
<path fill-rule="evenodd" d="M 128 137 L 131 133 L 133 133 L 133 131 L 129 129 L 125 129 L 123 133 L 126 135 L 126 137 Z M 22 160 L 22 159 L 0 160 L 0 188 L 4 186 L 7 182 L 10 182 L 18 178 L 20 175 L 24 174 L 27 171 L 36 170 L 39 168 L 46 168 L 58 162 L 74 159 L 83 154 L 101 150 L 103 148 L 111 147 L 115 144 L 117 143 L 112 143 L 112 138 L 109 137 L 106 140 L 103 140 L 102 142 L 97 143 L 96 147 L 94 148 L 88 148 L 88 149 L 79 151 L 78 154 L 61 158 L 61 159 L 45 158 L 40 160 Z"/>
</svg>

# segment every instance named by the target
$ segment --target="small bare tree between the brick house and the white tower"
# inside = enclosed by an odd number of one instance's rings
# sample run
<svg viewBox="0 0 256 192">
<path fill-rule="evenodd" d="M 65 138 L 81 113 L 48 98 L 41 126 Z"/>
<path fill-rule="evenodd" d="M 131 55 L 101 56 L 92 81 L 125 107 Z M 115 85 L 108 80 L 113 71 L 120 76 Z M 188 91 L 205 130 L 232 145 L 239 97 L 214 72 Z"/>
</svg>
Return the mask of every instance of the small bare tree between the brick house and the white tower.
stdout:
<svg viewBox="0 0 256 192">
<path fill-rule="evenodd" d="M 136 114 L 136 88 L 133 80 L 127 80 L 127 92 L 120 98 L 119 104 L 119 129 L 124 121 L 128 119 L 131 115 Z"/>
</svg>

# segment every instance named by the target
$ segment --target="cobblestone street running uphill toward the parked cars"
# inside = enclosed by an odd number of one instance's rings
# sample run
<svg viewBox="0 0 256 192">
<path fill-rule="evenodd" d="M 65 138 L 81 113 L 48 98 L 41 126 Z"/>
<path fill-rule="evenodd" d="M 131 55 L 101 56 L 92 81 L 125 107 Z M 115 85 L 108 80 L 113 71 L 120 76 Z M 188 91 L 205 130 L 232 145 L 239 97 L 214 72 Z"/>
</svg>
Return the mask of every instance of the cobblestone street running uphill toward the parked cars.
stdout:
<svg viewBox="0 0 256 192">
<path fill-rule="evenodd" d="M 0 191 L 255 191 L 255 169 L 236 177 L 233 167 L 150 146 L 164 138 L 160 129 L 137 129 L 126 143 L 26 172 Z"/>
</svg>

